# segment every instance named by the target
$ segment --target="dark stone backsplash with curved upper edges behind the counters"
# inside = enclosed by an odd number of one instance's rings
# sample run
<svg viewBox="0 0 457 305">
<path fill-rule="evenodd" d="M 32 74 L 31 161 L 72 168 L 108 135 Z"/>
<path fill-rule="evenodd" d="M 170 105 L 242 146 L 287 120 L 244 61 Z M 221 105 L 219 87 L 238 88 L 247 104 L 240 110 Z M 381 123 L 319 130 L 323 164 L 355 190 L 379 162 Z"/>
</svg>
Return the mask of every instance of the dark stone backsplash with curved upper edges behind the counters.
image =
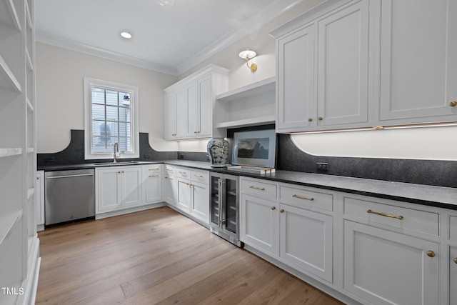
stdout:
<svg viewBox="0 0 457 305">
<path fill-rule="evenodd" d="M 229 129 L 231 143 L 233 132 L 274 129 L 274 125 L 243 129 Z M 147 133 L 140 133 L 140 158 L 134 161 L 159 161 L 183 159 L 209 161 L 206 152 L 155 151 L 149 145 Z M 38 166 L 94 163 L 106 160 L 84 160 L 84 131 L 71 130 L 68 147 L 55 154 L 37 154 Z M 54 160 L 54 161 L 51 161 Z M 231 156 L 229 156 L 229 162 Z M 348 158 L 313 156 L 298 149 L 288 134 L 277 135 L 276 169 L 316 173 L 316 163 L 328 163 L 326 174 L 385 181 L 457 187 L 457 161 L 433 161 L 413 159 Z"/>
</svg>

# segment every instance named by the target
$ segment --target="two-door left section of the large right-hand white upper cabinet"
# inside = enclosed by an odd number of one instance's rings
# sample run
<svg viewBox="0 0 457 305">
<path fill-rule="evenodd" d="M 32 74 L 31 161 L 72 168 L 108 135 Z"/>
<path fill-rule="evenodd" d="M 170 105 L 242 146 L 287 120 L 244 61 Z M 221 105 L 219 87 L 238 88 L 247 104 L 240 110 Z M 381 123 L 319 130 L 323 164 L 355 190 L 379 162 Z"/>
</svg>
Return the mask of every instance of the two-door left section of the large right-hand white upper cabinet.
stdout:
<svg viewBox="0 0 457 305">
<path fill-rule="evenodd" d="M 324 3 L 271 33 L 278 132 L 368 124 L 369 1 L 344 2 Z"/>
</svg>

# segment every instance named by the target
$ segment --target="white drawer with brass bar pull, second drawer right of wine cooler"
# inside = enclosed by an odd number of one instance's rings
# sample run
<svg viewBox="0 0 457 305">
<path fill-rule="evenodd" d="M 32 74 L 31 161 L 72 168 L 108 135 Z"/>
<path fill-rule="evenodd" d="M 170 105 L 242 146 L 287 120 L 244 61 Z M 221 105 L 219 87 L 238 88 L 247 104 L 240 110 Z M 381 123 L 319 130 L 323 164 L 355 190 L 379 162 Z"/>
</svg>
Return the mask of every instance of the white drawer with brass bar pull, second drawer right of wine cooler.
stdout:
<svg viewBox="0 0 457 305">
<path fill-rule="evenodd" d="M 288 186 L 280 186 L 279 190 L 281 202 L 284 204 L 289 204 L 298 208 L 313 206 L 317 209 L 333 211 L 333 196 L 330 194 Z"/>
</svg>

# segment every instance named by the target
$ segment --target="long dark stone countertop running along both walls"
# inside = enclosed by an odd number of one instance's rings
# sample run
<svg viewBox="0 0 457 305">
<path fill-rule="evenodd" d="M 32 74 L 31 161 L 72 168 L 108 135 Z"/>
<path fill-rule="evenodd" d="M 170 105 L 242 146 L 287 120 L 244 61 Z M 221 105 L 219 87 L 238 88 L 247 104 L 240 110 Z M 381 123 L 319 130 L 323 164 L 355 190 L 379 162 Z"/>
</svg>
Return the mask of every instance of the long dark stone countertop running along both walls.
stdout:
<svg viewBox="0 0 457 305">
<path fill-rule="evenodd" d="M 139 161 L 118 164 L 72 164 L 56 166 L 40 166 L 39 170 L 59 171 L 68 169 L 87 169 L 106 166 L 136 165 L 136 164 L 171 164 L 176 166 L 186 166 L 194 169 L 204 169 L 224 174 L 238 176 L 249 176 L 271 181 L 297 184 L 301 186 L 311 186 L 319 189 L 332 191 L 342 191 L 351 194 L 373 196 L 382 199 L 392 199 L 396 201 L 411 202 L 413 204 L 423 204 L 427 206 L 437 206 L 446 209 L 457 209 L 457 189 L 441 186 L 428 186 L 423 184 L 408 184 L 401 182 L 391 182 L 373 179 L 360 179 L 346 176 L 333 176 L 327 174 L 311 174 L 298 171 L 276 170 L 273 174 L 250 174 L 229 171 L 226 168 L 212 168 L 209 162 L 187 161 L 187 160 L 163 160 L 163 161 Z"/>
</svg>

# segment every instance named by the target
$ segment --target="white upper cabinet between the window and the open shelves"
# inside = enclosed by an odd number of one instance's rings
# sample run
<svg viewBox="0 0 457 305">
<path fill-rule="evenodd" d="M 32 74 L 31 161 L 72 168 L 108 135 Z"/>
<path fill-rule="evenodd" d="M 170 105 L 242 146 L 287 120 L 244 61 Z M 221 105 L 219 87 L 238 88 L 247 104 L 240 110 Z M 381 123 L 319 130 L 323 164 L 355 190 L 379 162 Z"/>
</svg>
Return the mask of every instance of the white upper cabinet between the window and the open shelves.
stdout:
<svg viewBox="0 0 457 305">
<path fill-rule="evenodd" d="M 166 140 L 225 136 L 213 126 L 216 94 L 227 91 L 228 70 L 209 65 L 164 89 Z"/>
</svg>

